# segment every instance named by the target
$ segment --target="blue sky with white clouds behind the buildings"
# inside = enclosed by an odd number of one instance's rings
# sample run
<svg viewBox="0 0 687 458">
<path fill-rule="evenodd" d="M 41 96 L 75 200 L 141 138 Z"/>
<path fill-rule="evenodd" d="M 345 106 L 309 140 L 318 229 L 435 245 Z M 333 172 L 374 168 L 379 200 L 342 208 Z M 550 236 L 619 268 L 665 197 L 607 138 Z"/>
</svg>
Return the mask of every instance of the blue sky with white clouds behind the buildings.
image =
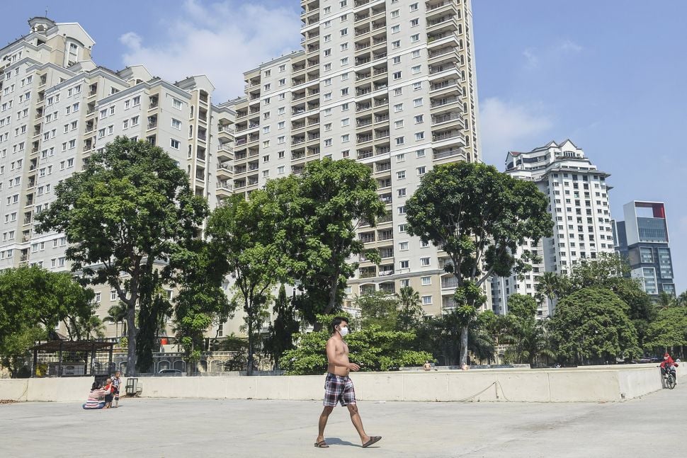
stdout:
<svg viewBox="0 0 687 458">
<path fill-rule="evenodd" d="M 166 79 L 206 73 L 215 101 L 241 95 L 242 71 L 300 46 L 298 0 L 13 3 L 6 42 L 47 6 L 55 21 L 86 28 L 98 64 L 146 64 Z M 676 288 L 687 290 L 687 1 L 472 0 L 472 8 L 484 160 L 503 170 L 509 149 L 572 139 L 611 173 L 613 217 L 630 200 L 666 202 Z"/>
</svg>

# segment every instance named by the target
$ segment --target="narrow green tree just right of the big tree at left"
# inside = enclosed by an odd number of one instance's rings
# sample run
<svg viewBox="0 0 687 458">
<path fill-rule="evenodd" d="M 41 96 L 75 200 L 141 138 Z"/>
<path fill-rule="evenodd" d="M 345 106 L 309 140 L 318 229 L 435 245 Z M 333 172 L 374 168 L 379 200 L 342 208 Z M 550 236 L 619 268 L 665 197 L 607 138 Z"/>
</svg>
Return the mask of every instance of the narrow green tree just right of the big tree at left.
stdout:
<svg viewBox="0 0 687 458">
<path fill-rule="evenodd" d="M 192 239 L 179 244 L 171 256 L 174 267 L 174 332 L 191 374 L 204 348 L 205 331 L 234 316 L 235 307 L 222 290 L 227 260 L 214 241 Z"/>
</svg>

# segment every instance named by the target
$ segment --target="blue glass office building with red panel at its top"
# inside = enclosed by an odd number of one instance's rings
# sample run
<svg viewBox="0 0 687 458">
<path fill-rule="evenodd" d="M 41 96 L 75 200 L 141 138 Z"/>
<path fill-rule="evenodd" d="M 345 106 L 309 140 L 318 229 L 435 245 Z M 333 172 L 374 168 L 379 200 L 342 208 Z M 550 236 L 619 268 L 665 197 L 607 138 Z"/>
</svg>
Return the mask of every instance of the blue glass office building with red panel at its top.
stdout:
<svg viewBox="0 0 687 458">
<path fill-rule="evenodd" d="M 630 275 L 647 294 L 676 294 L 664 202 L 633 200 L 623 205 L 625 221 L 613 220 L 615 251 L 628 259 Z"/>
</svg>

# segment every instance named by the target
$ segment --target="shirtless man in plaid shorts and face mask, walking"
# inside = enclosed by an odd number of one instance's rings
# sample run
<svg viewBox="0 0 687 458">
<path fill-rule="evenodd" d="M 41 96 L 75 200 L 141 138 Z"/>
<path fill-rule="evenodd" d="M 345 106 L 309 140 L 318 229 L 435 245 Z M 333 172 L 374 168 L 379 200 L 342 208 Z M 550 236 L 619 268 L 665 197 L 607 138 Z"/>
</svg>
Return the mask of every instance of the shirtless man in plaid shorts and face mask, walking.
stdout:
<svg viewBox="0 0 687 458">
<path fill-rule="evenodd" d="M 327 380 L 324 382 L 324 410 L 319 416 L 319 433 L 315 440 L 315 447 L 328 448 L 324 442 L 324 427 L 327 426 L 329 414 L 334 410 L 336 403 L 348 407 L 351 421 L 360 435 L 363 448 L 370 447 L 382 439 L 382 436 L 368 436 L 363 429 L 363 421 L 358 414 L 356 406 L 356 391 L 353 390 L 353 381 L 348 377 L 351 370 L 356 372 L 360 366 L 348 361 L 348 345 L 344 337 L 348 334 L 348 320 L 337 316 L 331 321 L 331 337 L 327 340 Z"/>
</svg>

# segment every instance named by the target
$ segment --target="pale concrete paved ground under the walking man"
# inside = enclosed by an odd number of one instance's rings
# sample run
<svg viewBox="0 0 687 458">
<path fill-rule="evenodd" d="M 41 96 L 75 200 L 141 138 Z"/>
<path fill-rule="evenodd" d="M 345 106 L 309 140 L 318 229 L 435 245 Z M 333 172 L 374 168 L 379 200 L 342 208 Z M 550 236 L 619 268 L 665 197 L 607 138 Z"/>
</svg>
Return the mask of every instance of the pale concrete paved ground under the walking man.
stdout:
<svg viewBox="0 0 687 458">
<path fill-rule="evenodd" d="M 681 385 L 624 403 L 414 403 L 361 401 L 368 449 L 345 408 L 313 447 L 315 401 L 123 399 L 0 405 L 0 457 L 647 457 L 687 429 Z M 680 450 L 680 449 L 678 449 Z M 679 453 L 678 453 L 679 455 Z"/>
</svg>

